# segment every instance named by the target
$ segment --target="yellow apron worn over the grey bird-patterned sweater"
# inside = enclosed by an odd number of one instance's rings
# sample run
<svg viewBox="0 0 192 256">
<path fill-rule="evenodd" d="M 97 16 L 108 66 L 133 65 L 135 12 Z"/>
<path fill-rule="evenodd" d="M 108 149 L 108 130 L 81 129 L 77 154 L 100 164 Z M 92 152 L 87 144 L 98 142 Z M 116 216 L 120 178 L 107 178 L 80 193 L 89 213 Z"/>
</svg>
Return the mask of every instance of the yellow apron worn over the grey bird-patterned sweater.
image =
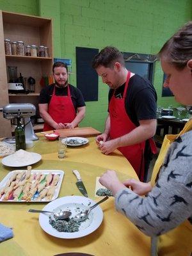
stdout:
<svg viewBox="0 0 192 256">
<path fill-rule="evenodd" d="M 192 130 L 192 120 L 189 120 L 186 123 L 179 134 L 168 134 L 164 136 L 163 144 L 152 173 L 152 186 L 155 184 L 157 174 L 159 173 L 161 165 L 164 161 L 164 157 L 166 156 L 166 152 L 168 151 L 168 148 L 172 142 L 177 137 L 190 130 Z M 186 220 L 184 223 L 179 225 L 179 227 L 174 228 L 162 236 L 159 236 L 157 252 L 158 256 L 190 256 L 192 252 L 192 225 L 189 223 L 189 221 Z"/>
</svg>

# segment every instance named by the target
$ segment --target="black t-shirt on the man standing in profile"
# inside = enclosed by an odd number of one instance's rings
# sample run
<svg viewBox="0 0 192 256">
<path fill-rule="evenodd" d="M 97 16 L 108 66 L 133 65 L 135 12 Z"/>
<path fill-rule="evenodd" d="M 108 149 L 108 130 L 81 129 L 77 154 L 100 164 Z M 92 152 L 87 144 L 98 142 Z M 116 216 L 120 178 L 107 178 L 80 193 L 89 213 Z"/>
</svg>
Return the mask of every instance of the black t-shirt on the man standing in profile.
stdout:
<svg viewBox="0 0 192 256">
<path fill-rule="evenodd" d="M 122 99 L 125 83 L 115 90 L 115 97 Z M 109 90 L 109 101 L 114 89 Z M 125 96 L 125 110 L 134 125 L 139 126 L 139 120 L 156 119 L 157 94 L 154 86 L 141 76 L 135 74 L 129 80 Z"/>
</svg>

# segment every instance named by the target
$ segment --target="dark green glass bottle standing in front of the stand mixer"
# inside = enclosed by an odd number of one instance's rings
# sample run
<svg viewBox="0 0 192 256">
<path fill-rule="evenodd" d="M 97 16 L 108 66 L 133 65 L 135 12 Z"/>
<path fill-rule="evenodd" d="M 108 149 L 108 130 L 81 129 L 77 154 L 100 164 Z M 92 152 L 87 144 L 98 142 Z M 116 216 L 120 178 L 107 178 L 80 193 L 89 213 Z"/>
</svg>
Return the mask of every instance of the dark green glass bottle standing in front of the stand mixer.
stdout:
<svg viewBox="0 0 192 256">
<path fill-rule="evenodd" d="M 15 144 L 16 150 L 26 149 L 25 129 L 20 122 L 20 117 L 17 118 L 17 127 L 15 128 Z"/>
</svg>

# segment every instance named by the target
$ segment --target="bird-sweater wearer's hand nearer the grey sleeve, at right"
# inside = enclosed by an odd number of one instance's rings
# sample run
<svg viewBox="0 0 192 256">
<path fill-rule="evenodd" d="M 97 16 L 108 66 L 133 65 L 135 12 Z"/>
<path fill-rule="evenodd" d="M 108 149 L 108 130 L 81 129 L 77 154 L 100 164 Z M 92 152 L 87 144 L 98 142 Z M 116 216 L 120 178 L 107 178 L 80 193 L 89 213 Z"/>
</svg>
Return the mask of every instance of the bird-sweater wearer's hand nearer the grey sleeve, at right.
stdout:
<svg viewBox="0 0 192 256">
<path fill-rule="evenodd" d="M 127 188 L 131 187 L 132 191 L 140 196 L 147 195 L 148 192 L 152 190 L 152 186 L 150 185 L 150 182 L 145 183 L 139 180 L 129 179 L 129 180 L 125 180 L 123 184 Z"/>
</svg>

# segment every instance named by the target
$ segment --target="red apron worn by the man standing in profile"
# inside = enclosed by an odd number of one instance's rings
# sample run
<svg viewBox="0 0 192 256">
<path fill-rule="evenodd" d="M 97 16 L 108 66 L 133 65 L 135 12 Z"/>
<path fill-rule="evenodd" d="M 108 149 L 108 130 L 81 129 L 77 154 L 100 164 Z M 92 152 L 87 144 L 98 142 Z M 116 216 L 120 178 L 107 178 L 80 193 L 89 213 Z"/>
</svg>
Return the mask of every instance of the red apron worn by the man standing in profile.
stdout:
<svg viewBox="0 0 192 256">
<path fill-rule="evenodd" d="M 110 116 L 110 137 L 111 139 L 118 138 L 120 136 L 124 136 L 125 134 L 131 132 L 136 128 L 127 115 L 125 109 L 125 96 L 127 94 L 127 89 L 129 86 L 129 79 L 131 76 L 131 72 L 127 74 L 127 81 L 125 83 L 124 96 L 122 99 L 115 98 L 115 91 L 111 100 L 109 102 L 109 116 Z M 118 148 L 120 152 L 127 158 L 129 163 L 131 163 L 135 172 L 137 173 L 140 180 L 143 180 L 144 177 L 144 150 L 145 150 L 145 141 Z"/>
</svg>

